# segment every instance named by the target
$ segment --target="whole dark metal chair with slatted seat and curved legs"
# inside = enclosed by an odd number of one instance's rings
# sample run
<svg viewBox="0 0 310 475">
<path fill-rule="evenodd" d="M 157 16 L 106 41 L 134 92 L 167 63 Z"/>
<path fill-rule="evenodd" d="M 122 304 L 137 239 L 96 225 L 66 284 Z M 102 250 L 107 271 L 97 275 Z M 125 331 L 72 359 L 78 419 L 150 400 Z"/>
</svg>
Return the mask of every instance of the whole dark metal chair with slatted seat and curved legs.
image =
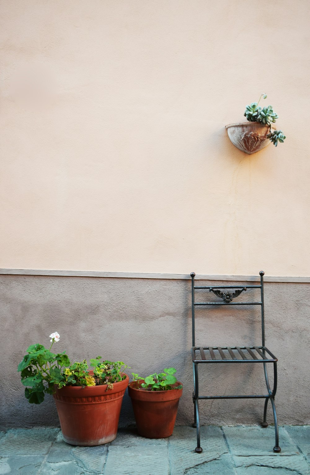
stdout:
<svg viewBox="0 0 310 475">
<path fill-rule="evenodd" d="M 264 272 L 260 271 L 260 285 L 247 285 L 246 287 L 242 285 L 224 285 L 224 286 L 200 286 L 195 285 L 194 277 L 195 273 L 191 273 L 191 314 L 192 314 L 192 348 L 191 348 L 191 359 L 193 364 L 193 373 L 194 373 L 194 391 L 193 391 L 193 403 L 194 403 L 194 424 L 193 427 L 197 428 L 197 447 L 195 452 L 201 453 L 202 448 L 200 445 L 200 422 L 199 422 L 199 400 L 201 399 L 265 399 L 264 405 L 264 418 L 262 422 L 263 427 L 268 427 L 266 422 L 267 415 L 267 405 L 270 400 L 273 413 L 274 413 L 274 430 L 275 430 L 275 446 L 274 452 L 280 452 L 281 448 L 279 447 L 279 432 L 278 432 L 278 423 L 277 415 L 274 405 L 274 397 L 277 390 L 277 358 L 273 355 L 272 352 L 268 350 L 265 346 L 265 329 L 264 329 L 264 282 L 263 276 Z M 195 290 L 209 289 L 210 292 L 213 292 L 217 295 L 222 301 L 221 302 L 196 302 L 195 301 Z M 225 290 L 224 290 L 225 289 Z M 231 290 L 230 290 L 231 289 Z M 246 291 L 247 289 L 260 289 L 261 299 L 260 302 L 233 302 L 241 292 Z M 224 292 L 223 292 L 224 290 Z M 261 307 L 261 316 L 262 316 L 262 344 L 260 346 L 195 346 L 195 307 L 197 305 L 201 306 L 214 306 L 214 305 L 260 305 Z M 224 351 L 225 350 L 225 353 Z M 215 352 L 216 351 L 216 354 Z M 229 356 L 228 356 L 229 353 Z M 218 356 L 218 358 L 217 358 Z M 268 394 L 258 394 L 258 395 L 242 395 L 242 396 L 200 396 L 199 395 L 199 384 L 198 384 L 198 365 L 199 364 L 214 364 L 214 363 L 228 363 L 228 364 L 239 364 L 239 363 L 263 363 L 264 365 L 264 376 L 266 380 L 266 386 Z M 268 374 L 267 374 L 267 363 L 274 364 L 274 387 L 273 390 L 270 389 Z"/>
</svg>

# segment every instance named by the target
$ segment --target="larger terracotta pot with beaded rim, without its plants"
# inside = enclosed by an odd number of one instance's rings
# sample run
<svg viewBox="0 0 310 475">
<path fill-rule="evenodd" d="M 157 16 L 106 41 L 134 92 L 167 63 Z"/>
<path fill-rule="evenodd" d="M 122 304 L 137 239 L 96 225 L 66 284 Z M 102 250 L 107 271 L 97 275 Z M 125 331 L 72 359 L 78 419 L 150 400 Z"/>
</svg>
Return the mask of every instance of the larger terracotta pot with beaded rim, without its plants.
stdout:
<svg viewBox="0 0 310 475">
<path fill-rule="evenodd" d="M 64 386 L 54 394 L 65 442 L 76 446 L 97 446 L 117 436 L 119 413 L 129 378 L 101 386 Z"/>
</svg>

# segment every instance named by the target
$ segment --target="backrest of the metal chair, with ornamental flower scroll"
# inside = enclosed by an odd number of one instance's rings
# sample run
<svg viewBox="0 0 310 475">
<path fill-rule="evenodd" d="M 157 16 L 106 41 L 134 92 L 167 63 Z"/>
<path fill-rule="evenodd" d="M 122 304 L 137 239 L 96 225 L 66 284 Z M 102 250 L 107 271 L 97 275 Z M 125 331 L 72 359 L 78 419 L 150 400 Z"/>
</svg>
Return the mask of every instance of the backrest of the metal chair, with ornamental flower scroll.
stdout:
<svg viewBox="0 0 310 475">
<path fill-rule="evenodd" d="M 191 273 L 191 331 L 192 346 L 195 346 L 195 307 L 200 305 L 260 305 L 262 315 L 262 346 L 265 346 L 265 322 L 264 322 L 264 272 L 260 273 L 260 285 L 195 285 L 195 273 Z M 217 295 L 222 302 L 196 302 L 195 290 L 209 289 L 210 292 Z M 225 291 L 227 289 L 227 291 Z M 230 290 L 231 289 L 231 290 Z M 233 290 L 235 289 L 235 290 Z M 233 300 L 242 292 L 248 289 L 260 289 L 260 302 L 234 302 Z"/>
</svg>

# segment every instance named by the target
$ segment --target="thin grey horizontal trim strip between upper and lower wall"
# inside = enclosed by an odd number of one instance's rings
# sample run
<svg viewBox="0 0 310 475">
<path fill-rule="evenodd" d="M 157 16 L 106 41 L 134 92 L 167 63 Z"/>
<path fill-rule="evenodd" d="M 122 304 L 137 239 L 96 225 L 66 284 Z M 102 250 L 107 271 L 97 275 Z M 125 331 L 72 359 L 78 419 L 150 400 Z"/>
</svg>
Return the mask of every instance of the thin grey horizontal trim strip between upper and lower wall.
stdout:
<svg viewBox="0 0 310 475">
<path fill-rule="evenodd" d="M 189 280 L 188 274 L 154 274 L 147 272 L 103 272 L 89 270 L 53 270 L 53 269 L 1 269 L 0 274 L 17 276 L 63 276 L 63 277 L 114 277 L 127 279 L 176 279 Z M 197 274 L 195 280 L 216 280 L 225 282 L 259 282 L 259 276 L 219 276 Z M 264 276 L 264 282 L 310 283 L 310 277 L 272 277 Z"/>
</svg>

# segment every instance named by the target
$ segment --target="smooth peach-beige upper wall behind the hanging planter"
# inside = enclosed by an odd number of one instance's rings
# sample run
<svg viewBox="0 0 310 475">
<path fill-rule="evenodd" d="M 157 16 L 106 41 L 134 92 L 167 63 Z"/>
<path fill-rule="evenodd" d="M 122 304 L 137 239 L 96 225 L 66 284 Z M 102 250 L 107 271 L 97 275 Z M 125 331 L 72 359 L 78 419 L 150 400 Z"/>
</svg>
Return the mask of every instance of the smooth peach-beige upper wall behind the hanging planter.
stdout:
<svg viewBox="0 0 310 475">
<path fill-rule="evenodd" d="M 307 0 L 1 0 L 0 266 L 309 276 Z M 268 94 L 287 139 L 227 123 Z"/>
</svg>

